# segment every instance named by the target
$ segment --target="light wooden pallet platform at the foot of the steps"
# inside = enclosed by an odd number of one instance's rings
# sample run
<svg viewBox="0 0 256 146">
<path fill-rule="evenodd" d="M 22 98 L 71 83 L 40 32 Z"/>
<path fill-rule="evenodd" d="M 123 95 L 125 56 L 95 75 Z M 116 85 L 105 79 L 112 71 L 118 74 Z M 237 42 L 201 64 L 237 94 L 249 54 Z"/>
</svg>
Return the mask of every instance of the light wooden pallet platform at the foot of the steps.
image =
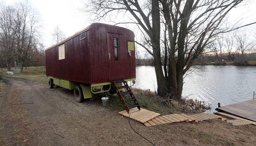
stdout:
<svg viewBox="0 0 256 146">
<path fill-rule="evenodd" d="M 137 107 L 130 109 L 130 113 L 128 114 L 125 110 L 118 112 L 119 114 L 128 117 L 130 116 L 131 119 L 139 121 L 140 123 L 145 123 L 148 120 L 151 120 L 160 115 L 160 113 L 149 111 L 143 108 L 140 108 L 140 111 Z"/>
</svg>

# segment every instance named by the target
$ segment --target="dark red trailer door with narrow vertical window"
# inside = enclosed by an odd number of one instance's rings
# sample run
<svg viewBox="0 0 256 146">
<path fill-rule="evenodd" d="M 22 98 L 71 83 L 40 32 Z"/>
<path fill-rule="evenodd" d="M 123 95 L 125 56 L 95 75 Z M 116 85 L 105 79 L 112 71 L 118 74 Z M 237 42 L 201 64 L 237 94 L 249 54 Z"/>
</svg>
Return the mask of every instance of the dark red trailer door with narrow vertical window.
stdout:
<svg viewBox="0 0 256 146">
<path fill-rule="evenodd" d="M 108 79 L 124 80 L 124 39 L 123 35 L 110 34 L 108 39 Z"/>
</svg>

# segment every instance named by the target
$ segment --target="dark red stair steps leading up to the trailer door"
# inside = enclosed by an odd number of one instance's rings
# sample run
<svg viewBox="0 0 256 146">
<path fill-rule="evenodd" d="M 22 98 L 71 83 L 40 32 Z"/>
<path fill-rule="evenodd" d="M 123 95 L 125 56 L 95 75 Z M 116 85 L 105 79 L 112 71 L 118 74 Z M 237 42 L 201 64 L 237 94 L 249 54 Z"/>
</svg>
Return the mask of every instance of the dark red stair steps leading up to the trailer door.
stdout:
<svg viewBox="0 0 256 146">
<path fill-rule="evenodd" d="M 122 86 L 117 87 L 116 83 L 123 83 L 124 86 L 121 84 Z M 137 107 L 140 110 L 140 104 L 138 103 L 137 99 L 133 95 L 132 90 L 130 89 L 130 87 L 128 86 L 126 81 L 112 81 L 111 84 L 113 85 L 115 90 L 118 91 L 116 94 L 119 97 L 121 103 L 124 105 L 124 108 L 125 108 L 125 110 L 127 111 L 128 114 L 130 112 L 130 109 L 132 109 L 132 108 Z M 122 88 L 126 88 L 127 91 L 120 92 L 119 89 L 122 89 Z M 129 95 L 129 97 L 131 97 L 131 98 L 124 99 L 123 95 Z M 134 101 L 134 104 L 129 105 L 128 103 L 131 102 L 131 101 Z"/>
</svg>

